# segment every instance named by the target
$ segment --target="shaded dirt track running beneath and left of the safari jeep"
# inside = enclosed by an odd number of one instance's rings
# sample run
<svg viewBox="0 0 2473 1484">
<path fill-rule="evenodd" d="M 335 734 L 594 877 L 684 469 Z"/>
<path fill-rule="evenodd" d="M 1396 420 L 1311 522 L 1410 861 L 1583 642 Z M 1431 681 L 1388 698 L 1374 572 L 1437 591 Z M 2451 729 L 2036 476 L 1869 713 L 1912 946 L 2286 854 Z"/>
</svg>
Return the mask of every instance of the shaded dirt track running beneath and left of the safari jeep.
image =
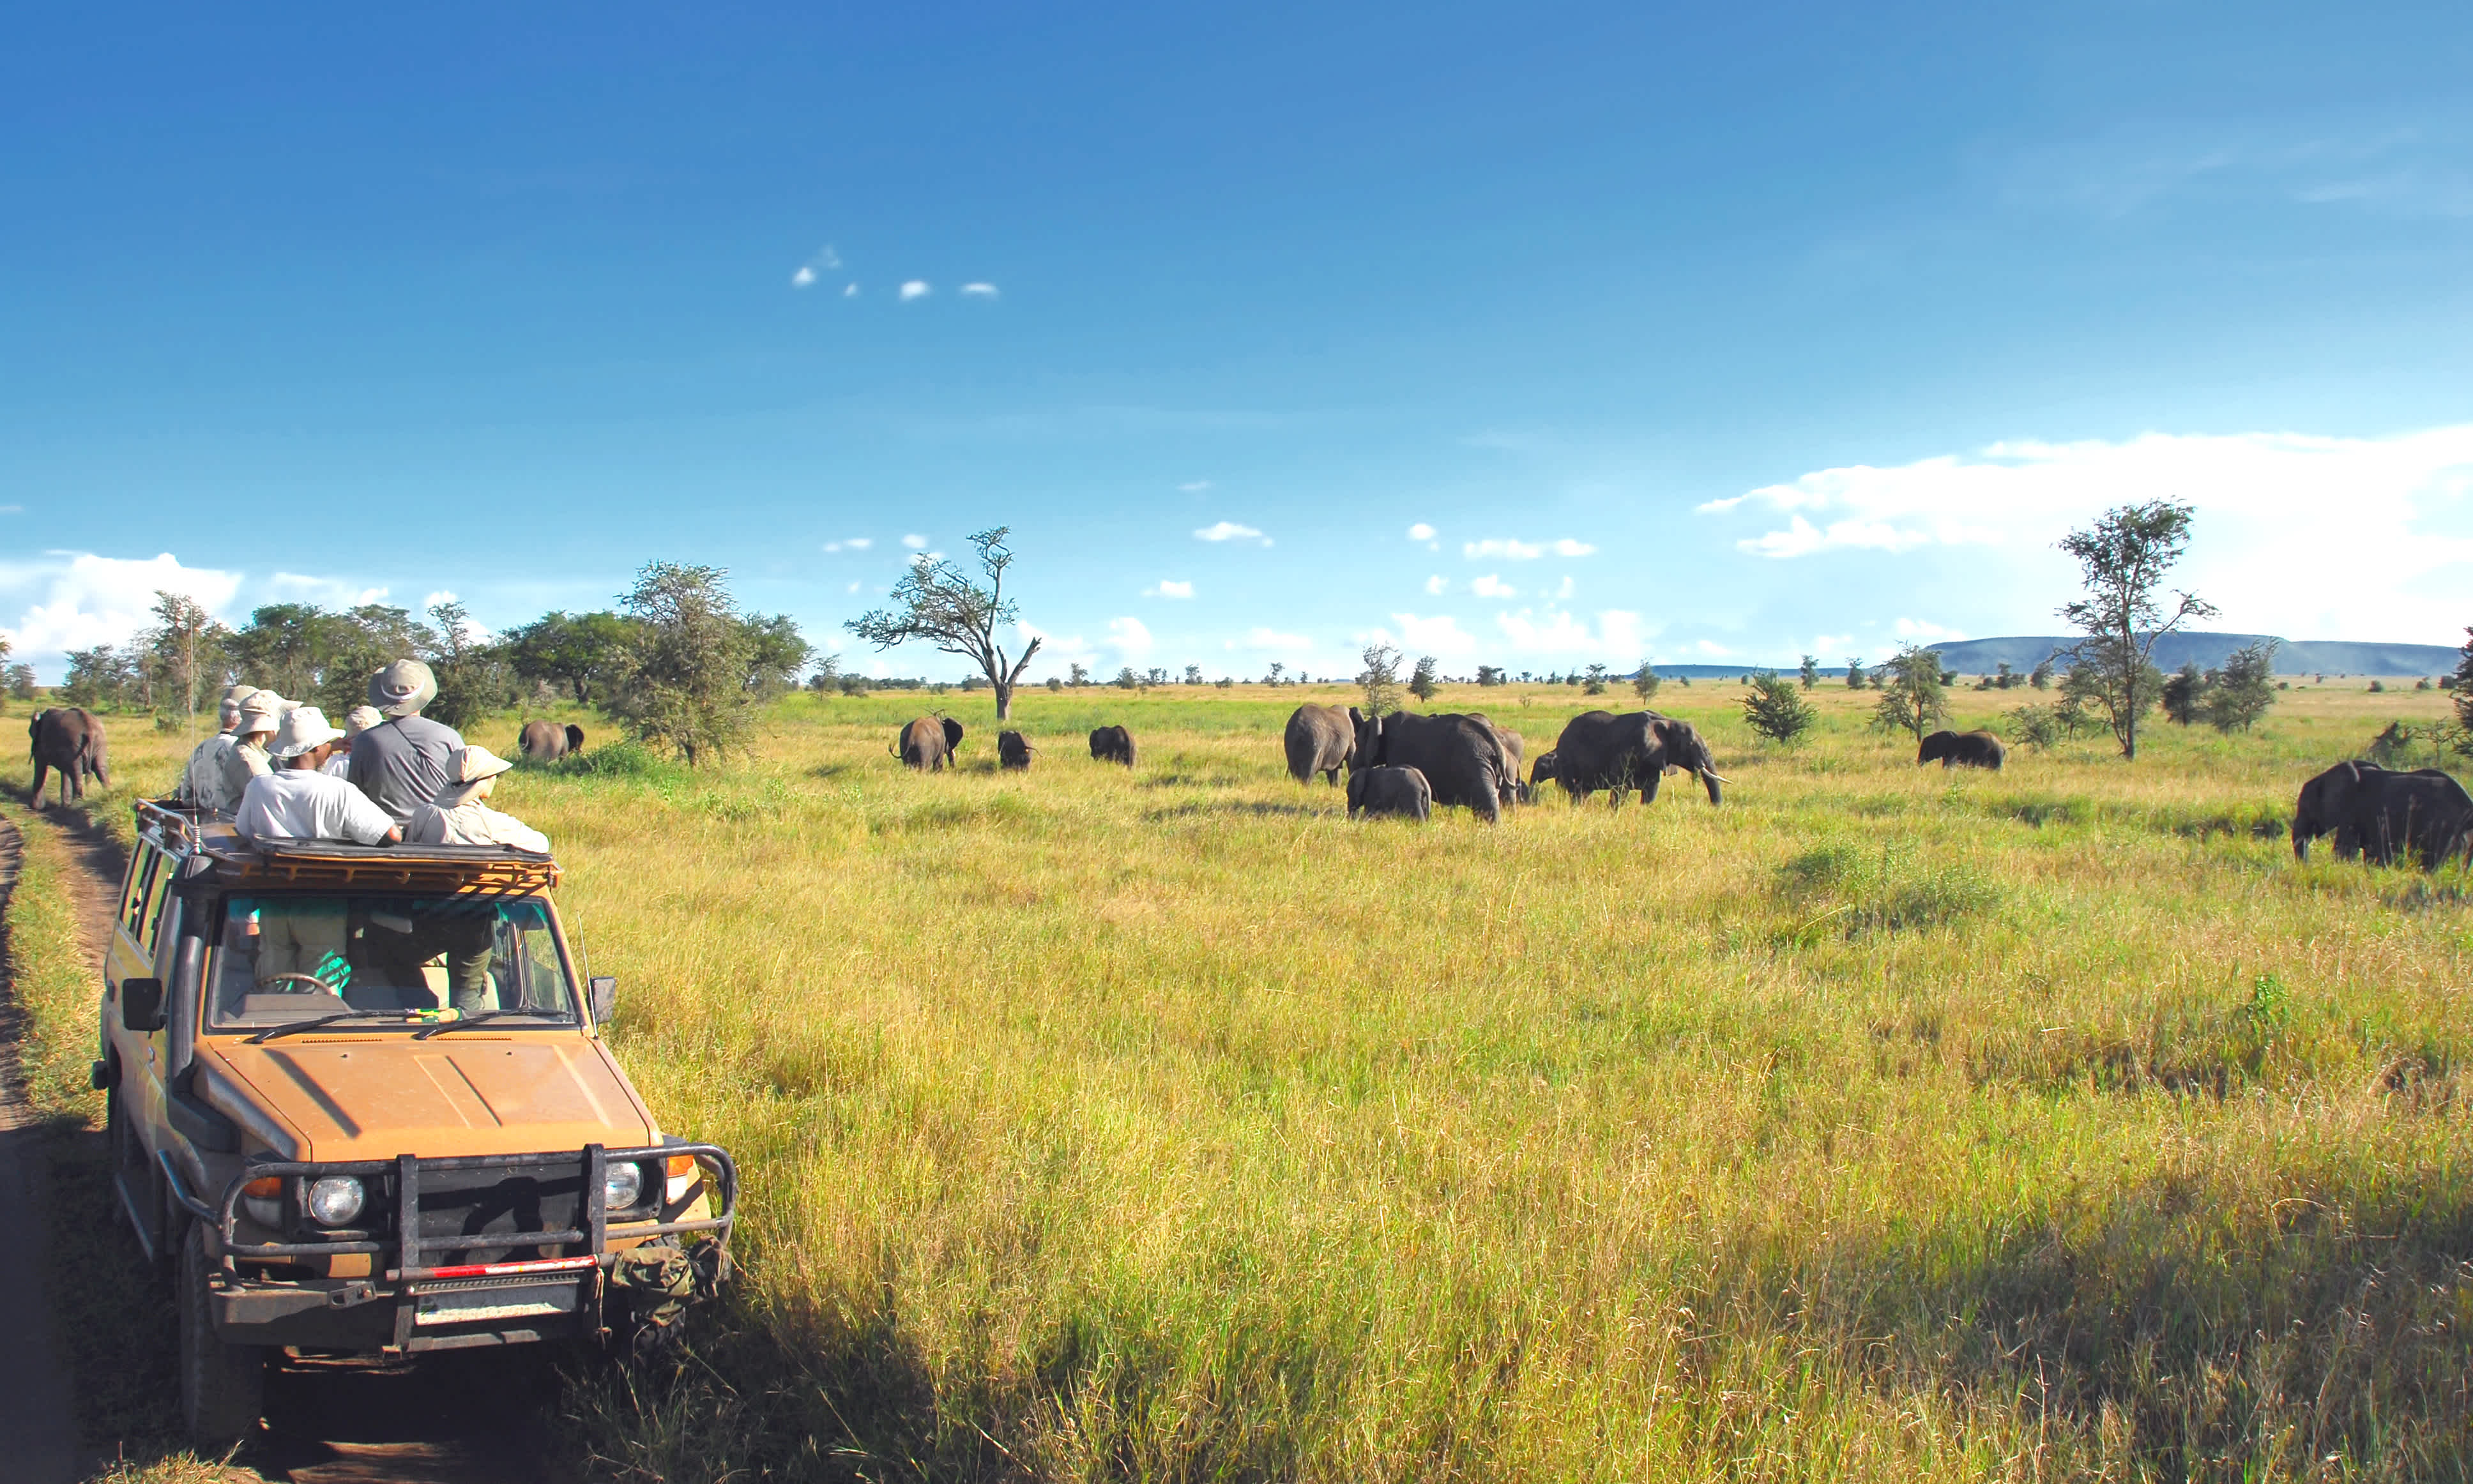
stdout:
<svg viewBox="0 0 2473 1484">
<path fill-rule="evenodd" d="M 79 940 L 101 977 L 121 856 L 74 824 L 47 819 L 77 871 Z M 0 819 L 0 900 L 15 883 L 20 836 Z M 0 979 L 5 984 L 5 979 Z M 15 1078 L 17 1019 L 0 997 L 0 1271 L 45 1271 L 40 1140 Z M 101 1138 L 101 1135 L 84 1135 Z M 129 1279 L 146 1281 L 129 1239 Z M 99 1467 L 74 1435 L 69 1375 L 52 1355 L 49 1311 L 40 1284 L 0 1284 L 0 1459 L 17 1484 L 69 1484 Z M 166 1306 L 171 1296 L 166 1294 Z M 230 1469 L 232 1484 L 537 1484 L 571 1477 L 551 1464 L 549 1420 L 556 1378 L 532 1345 L 507 1353 L 458 1353 L 418 1365 L 284 1363 L 267 1375 L 267 1427 Z M 116 1449 L 101 1449 L 109 1457 Z M 131 1447 L 131 1454 L 138 1449 Z"/>
</svg>

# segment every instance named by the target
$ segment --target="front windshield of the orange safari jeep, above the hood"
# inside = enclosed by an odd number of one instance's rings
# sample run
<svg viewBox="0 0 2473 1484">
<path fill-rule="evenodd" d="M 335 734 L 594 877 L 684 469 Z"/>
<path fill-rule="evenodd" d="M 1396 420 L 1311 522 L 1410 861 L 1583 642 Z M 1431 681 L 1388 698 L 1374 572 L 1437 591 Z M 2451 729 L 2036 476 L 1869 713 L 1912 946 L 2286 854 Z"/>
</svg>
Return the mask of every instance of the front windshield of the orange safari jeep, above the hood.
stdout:
<svg viewBox="0 0 2473 1484">
<path fill-rule="evenodd" d="M 208 1026 L 232 1031 L 326 1017 L 393 1029 L 448 1009 L 502 1026 L 576 1019 L 542 898 L 230 895 L 205 979 Z"/>
</svg>

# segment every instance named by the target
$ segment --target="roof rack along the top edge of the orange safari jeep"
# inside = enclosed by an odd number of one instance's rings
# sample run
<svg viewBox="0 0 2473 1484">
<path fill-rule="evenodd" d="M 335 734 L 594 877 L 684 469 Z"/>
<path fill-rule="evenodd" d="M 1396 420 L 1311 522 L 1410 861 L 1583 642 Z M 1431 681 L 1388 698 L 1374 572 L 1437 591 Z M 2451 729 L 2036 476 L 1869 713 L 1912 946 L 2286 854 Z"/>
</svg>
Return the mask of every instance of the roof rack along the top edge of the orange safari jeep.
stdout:
<svg viewBox="0 0 2473 1484">
<path fill-rule="evenodd" d="M 210 861 L 225 885 L 527 895 L 564 876 L 549 856 L 507 846 L 250 841 L 223 814 L 176 799 L 138 799 L 131 811 L 141 836 L 188 861 Z"/>
</svg>

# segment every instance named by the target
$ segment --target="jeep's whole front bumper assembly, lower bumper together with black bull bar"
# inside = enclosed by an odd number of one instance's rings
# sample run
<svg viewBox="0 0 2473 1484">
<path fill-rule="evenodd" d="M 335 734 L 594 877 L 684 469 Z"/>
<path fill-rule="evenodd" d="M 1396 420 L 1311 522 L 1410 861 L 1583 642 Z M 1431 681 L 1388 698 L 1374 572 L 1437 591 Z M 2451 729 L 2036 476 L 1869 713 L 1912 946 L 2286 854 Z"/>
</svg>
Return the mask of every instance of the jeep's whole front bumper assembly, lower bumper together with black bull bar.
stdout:
<svg viewBox="0 0 2473 1484">
<path fill-rule="evenodd" d="M 653 1162 L 687 1155 L 700 1180 L 680 1200 L 663 1192 L 643 1212 L 601 1209 L 598 1190 L 611 1162 Z M 490 1229 L 423 1234 L 423 1177 L 492 1170 L 569 1167 L 589 1197 L 576 1200 L 576 1224 L 554 1229 Z M 467 1345 L 517 1345 L 554 1338 L 606 1341 L 613 1289 L 638 1289 L 645 1259 L 675 1254 L 687 1239 L 712 1242 L 715 1259 L 700 1271 L 717 1281 L 727 1271 L 725 1244 L 737 1217 L 737 1165 L 717 1145 L 663 1145 L 606 1150 L 586 1145 L 574 1155 L 458 1155 L 423 1160 L 255 1162 L 235 1175 L 213 1205 L 198 1200 L 166 1158 L 171 1195 L 220 1237 L 213 1274 L 215 1328 L 235 1345 L 299 1345 L 331 1350 L 453 1350 Z M 356 1175 L 373 1190 L 391 1190 L 391 1229 L 344 1234 L 326 1242 L 245 1242 L 240 1234 L 242 1187 L 262 1177 L 297 1182 L 321 1175 Z M 715 1209 L 717 1202 L 717 1209 Z M 472 1249 L 527 1249 L 537 1256 L 500 1261 L 438 1261 Z M 334 1269 L 331 1259 L 368 1264 L 364 1279 L 307 1276 Z M 284 1266 L 302 1276 L 275 1276 Z M 354 1264 L 359 1266 L 359 1264 Z M 673 1264 L 675 1266 L 675 1264 Z M 631 1281 L 636 1279 L 636 1281 Z M 707 1284 L 710 1286 L 710 1284 Z M 650 1296 L 648 1296 L 650 1298 Z M 670 1303 L 663 1308 L 668 1313 Z"/>
</svg>

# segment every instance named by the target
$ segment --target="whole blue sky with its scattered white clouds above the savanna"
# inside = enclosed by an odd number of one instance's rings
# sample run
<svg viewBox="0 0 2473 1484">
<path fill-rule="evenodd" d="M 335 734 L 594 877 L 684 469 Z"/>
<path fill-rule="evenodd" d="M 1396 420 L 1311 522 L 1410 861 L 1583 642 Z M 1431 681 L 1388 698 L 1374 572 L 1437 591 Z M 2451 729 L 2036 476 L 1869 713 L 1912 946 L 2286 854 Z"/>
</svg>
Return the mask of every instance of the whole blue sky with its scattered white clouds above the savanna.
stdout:
<svg viewBox="0 0 2473 1484">
<path fill-rule="evenodd" d="M 0 628 L 1011 524 L 1056 670 L 1837 663 L 2139 497 L 2473 623 L 2461 5 L 915 10 L 15 17 Z"/>
</svg>

